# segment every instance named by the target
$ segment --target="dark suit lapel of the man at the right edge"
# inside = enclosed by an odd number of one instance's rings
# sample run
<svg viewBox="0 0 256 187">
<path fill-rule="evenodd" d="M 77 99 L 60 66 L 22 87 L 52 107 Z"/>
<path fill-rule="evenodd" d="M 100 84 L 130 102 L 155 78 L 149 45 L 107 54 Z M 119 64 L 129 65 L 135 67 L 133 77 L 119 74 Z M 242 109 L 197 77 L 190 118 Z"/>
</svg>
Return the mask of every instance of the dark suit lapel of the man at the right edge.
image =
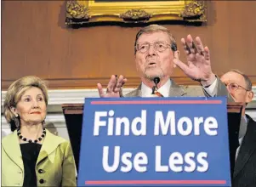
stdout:
<svg viewBox="0 0 256 187">
<path fill-rule="evenodd" d="M 236 159 L 234 178 L 245 166 L 253 151 L 256 150 L 256 122 L 250 116 L 247 116 L 247 119 L 247 133 L 242 140 L 241 149 Z"/>
</svg>

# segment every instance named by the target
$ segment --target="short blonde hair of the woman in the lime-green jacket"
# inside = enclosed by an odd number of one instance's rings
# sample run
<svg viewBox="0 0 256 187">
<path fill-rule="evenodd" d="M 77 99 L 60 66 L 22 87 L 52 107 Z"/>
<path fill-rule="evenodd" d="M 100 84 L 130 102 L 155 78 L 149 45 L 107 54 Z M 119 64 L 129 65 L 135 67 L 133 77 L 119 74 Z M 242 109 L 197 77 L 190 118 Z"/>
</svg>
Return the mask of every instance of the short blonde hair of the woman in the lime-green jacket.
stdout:
<svg viewBox="0 0 256 187">
<path fill-rule="evenodd" d="M 6 121 L 9 122 L 12 131 L 20 127 L 20 117 L 14 116 L 11 108 L 16 107 L 26 90 L 33 87 L 42 90 L 45 104 L 48 105 L 48 89 L 46 83 L 43 82 L 43 80 L 39 77 L 21 77 L 20 79 L 13 82 L 7 90 L 3 104 L 3 113 Z"/>
</svg>

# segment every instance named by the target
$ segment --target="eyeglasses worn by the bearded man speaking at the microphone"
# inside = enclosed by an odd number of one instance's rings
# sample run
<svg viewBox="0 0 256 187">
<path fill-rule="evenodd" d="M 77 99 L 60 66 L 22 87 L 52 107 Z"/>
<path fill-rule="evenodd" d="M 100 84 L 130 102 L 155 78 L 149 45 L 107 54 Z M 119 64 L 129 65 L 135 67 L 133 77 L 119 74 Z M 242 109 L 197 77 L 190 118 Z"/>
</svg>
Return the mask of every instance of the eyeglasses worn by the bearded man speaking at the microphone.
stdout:
<svg viewBox="0 0 256 187">
<path fill-rule="evenodd" d="M 149 49 L 151 48 L 151 45 L 153 45 L 154 49 L 158 52 L 163 52 L 167 48 L 172 48 L 173 51 L 177 50 L 177 47 L 175 44 L 170 45 L 167 42 L 158 41 L 153 43 L 150 43 L 150 42 L 138 43 L 136 45 L 136 51 L 139 51 L 141 54 L 145 54 L 145 52 L 149 51 Z"/>
</svg>

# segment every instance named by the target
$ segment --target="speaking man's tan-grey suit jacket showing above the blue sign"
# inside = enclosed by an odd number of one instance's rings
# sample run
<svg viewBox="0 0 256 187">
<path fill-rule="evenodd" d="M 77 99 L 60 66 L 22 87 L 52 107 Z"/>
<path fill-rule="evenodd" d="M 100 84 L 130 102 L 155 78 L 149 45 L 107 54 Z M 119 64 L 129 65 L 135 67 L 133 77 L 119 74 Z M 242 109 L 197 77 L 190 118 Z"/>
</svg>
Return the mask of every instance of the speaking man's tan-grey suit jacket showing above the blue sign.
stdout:
<svg viewBox="0 0 256 187">
<path fill-rule="evenodd" d="M 217 78 L 217 94 L 216 96 L 228 96 L 228 101 L 233 101 L 228 94 L 228 91 L 219 77 Z M 198 96 L 209 96 L 208 93 L 200 86 L 179 86 L 174 81 L 169 89 L 169 97 L 198 97 Z M 124 97 L 141 97 L 141 84 L 139 88 L 134 89 L 132 92 L 126 94 Z M 234 101 L 233 101 L 234 102 Z"/>
</svg>

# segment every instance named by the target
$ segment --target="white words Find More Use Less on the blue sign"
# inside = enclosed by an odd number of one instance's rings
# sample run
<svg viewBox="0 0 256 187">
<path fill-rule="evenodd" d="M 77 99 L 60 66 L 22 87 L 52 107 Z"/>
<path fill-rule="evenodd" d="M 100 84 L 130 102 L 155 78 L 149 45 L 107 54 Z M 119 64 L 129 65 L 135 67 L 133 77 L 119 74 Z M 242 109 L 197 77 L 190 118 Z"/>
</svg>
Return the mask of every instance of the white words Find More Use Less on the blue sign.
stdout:
<svg viewBox="0 0 256 187">
<path fill-rule="evenodd" d="M 213 116 L 180 116 L 176 115 L 175 111 L 168 111 L 163 114 L 162 111 L 155 111 L 155 116 L 149 122 L 152 126 L 150 131 L 152 137 L 155 136 L 200 136 L 206 134 L 208 136 L 218 135 L 218 122 Z M 100 136 L 146 136 L 147 132 L 147 111 L 141 110 L 137 116 L 118 116 L 115 111 L 95 111 L 94 112 L 94 128 L 93 135 Z M 197 139 L 196 138 L 196 139 Z M 120 139 L 120 138 L 119 138 Z M 136 139 L 142 139 L 140 137 Z M 188 138 L 186 138 L 188 139 Z M 195 138 L 194 138 L 195 139 Z M 116 141 L 116 139 L 115 139 Z M 105 172 L 114 173 L 121 171 L 129 173 L 135 170 L 138 173 L 145 173 L 151 156 L 143 151 L 125 150 L 115 142 L 115 146 L 103 146 L 102 149 L 102 166 Z M 189 144 L 190 142 L 188 142 Z M 134 143 L 133 143 L 134 144 Z M 159 173 L 205 173 L 209 169 L 208 152 L 196 152 L 189 150 L 184 153 L 175 150 L 170 154 L 166 153 L 166 149 L 162 150 L 161 145 L 156 145 L 151 141 L 151 153 L 155 153 L 155 171 Z M 148 144 L 147 144 L 148 146 Z M 170 146 L 172 146 L 170 144 Z M 142 146 L 142 149 L 144 147 Z M 163 154 L 164 153 L 164 154 Z M 151 167 L 152 168 L 152 167 Z"/>
</svg>

